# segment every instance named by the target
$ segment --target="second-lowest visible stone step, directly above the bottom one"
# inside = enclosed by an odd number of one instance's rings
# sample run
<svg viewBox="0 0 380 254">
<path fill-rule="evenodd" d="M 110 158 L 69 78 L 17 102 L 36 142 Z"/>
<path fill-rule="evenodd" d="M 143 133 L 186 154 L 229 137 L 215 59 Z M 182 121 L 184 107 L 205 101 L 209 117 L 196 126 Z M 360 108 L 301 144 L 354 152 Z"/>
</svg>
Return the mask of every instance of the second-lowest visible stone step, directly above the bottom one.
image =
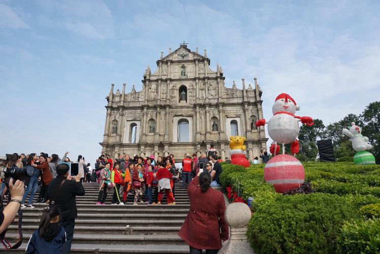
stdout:
<svg viewBox="0 0 380 254">
<path fill-rule="evenodd" d="M 31 234 L 23 235 L 28 242 Z M 16 242 L 18 234 L 7 233 L 7 240 Z M 74 234 L 73 244 L 186 244 L 178 235 L 89 235 Z"/>
</svg>

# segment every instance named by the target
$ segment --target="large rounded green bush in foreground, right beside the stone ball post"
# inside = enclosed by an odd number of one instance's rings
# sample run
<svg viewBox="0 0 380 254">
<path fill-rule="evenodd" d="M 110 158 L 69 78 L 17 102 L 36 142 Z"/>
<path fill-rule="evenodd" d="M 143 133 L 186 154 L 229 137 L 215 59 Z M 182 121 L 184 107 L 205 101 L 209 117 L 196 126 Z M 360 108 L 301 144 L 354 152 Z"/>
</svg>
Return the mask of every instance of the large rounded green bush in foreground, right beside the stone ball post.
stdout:
<svg viewBox="0 0 380 254">
<path fill-rule="evenodd" d="M 259 253 L 333 253 L 343 220 L 353 217 L 357 210 L 337 195 L 277 196 L 258 208 L 247 236 Z"/>
</svg>

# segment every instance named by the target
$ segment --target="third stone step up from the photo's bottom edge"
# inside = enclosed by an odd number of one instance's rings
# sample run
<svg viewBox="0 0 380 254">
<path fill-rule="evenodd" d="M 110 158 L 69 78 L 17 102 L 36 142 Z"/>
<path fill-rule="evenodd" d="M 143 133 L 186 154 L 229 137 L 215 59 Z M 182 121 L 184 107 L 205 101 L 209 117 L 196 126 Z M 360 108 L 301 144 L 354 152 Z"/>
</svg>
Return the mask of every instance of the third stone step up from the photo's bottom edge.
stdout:
<svg viewBox="0 0 380 254">
<path fill-rule="evenodd" d="M 94 222 L 96 224 L 96 222 Z M 74 233 L 75 234 L 91 234 L 91 235 L 170 235 L 177 234 L 180 230 L 180 226 L 152 226 L 152 227 L 122 227 L 122 226 L 77 226 L 75 225 Z M 22 232 L 24 234 L 32 234 L 38 229 L 38 224 L 34 225 L 25 225 L 22 226 Z M 17 233 L 18 228 L 17 224 L 10 225 L 8 227 L 7 233 Z"/>
</svg>

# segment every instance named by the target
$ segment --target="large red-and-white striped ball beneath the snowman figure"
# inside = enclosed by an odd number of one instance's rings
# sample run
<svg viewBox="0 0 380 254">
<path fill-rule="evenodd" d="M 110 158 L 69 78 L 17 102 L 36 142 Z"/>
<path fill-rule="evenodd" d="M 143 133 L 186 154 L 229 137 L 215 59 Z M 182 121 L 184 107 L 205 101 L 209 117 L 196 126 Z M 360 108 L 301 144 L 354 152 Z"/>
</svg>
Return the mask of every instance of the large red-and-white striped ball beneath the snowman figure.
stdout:
<svg viewBox="0 0 380 254">
<path fill-rule="evenodd" d="M 305 180 L 305 169 L 296 157 L 279 154 L 272 157 L 264 168 L 264 179 L 274 185 L 277 193 L 298 188 Z"/>
</svg>

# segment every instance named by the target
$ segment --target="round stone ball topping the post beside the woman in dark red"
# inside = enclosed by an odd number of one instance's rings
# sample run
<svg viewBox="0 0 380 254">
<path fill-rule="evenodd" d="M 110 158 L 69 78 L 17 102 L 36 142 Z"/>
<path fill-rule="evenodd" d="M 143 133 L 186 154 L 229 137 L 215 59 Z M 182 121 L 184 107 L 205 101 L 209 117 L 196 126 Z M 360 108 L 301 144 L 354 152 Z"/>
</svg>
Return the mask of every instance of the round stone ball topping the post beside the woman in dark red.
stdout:
<svg viewBox="0 0 380 254">
<path fill-rule="evenodd" d="M 226 219 L 230 227 L 241 229 L 248 226 L 252 213 L 244 203 L 229 204 L 226 209 Z"/>
</svg>

